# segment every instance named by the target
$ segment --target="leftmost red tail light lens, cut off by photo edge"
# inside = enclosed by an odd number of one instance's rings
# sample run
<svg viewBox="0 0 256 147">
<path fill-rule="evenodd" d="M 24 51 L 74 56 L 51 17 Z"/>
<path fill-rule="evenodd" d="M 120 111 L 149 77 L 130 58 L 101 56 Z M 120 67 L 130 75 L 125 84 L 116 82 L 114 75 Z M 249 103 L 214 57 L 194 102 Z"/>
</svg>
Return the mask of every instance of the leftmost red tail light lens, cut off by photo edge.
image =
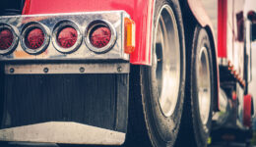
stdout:
<svg viewBox="0 0 256 147">
<path fill-rule="evenodd" d="M 11 47 L 14 41 L 14 35 L 8 28 L 0 30 L 0 50 L 6 50 Z"/>
</svg>

